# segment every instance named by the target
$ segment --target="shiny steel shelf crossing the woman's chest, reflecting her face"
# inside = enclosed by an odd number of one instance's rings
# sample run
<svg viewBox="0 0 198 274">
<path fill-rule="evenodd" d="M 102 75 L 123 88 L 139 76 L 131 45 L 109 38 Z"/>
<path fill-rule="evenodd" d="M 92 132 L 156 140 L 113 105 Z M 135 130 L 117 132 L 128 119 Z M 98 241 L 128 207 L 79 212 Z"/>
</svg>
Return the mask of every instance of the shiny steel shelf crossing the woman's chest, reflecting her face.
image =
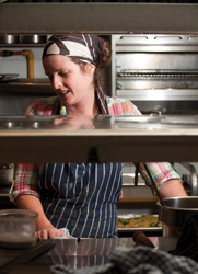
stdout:
<svg viewBox="0 0 198 274">
<path fill-rule="evenodd" d="M 198 160 L 197 115 L 149 117 L 1 116 L 0 162 Z"/>
</svg>

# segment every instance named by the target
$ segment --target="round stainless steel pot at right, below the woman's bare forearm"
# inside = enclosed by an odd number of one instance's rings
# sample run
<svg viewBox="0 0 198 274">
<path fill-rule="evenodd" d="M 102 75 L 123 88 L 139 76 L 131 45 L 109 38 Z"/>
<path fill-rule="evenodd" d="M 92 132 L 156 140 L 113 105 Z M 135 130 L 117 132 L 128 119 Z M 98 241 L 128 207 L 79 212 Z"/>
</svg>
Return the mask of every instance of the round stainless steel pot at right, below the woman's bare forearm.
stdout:
<svg viewBox="0 0 198 274">
<path fill-rule="evenodd" d="M 198 196 L 164 198 L 159 206 L 159 220 L 163 225 L 163 236 L 179 236 L 184 222 L 198 213 Z"/>
</svg>

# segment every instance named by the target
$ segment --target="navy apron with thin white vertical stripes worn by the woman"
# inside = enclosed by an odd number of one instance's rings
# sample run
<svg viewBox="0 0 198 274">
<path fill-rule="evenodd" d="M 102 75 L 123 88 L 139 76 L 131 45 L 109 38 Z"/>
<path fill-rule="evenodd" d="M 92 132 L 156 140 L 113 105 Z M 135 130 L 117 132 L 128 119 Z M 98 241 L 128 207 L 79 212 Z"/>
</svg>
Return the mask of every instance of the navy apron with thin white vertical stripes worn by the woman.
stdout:
<svg viewBox="0 0 198 274">
<path fill-rule="evenodd" d="M 117 237 L 120 163 L 44 164 L 38 192 L 47 218 L 73 237 Z"/>
</svg>

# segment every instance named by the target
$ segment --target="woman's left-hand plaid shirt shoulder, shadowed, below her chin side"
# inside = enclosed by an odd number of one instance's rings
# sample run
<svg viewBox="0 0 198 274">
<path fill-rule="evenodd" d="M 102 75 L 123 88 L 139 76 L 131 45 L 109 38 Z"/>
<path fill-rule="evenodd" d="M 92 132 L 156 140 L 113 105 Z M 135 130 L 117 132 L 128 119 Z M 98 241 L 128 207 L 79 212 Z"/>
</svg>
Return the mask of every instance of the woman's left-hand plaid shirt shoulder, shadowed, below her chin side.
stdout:
<svg viewBox="0 0 198 274">
<path fill-rule="evenodd" d="M 55 115 L 59 106 L 58 96 L 38 99 L 27 106 L 25 115 Z"/>
</svg>

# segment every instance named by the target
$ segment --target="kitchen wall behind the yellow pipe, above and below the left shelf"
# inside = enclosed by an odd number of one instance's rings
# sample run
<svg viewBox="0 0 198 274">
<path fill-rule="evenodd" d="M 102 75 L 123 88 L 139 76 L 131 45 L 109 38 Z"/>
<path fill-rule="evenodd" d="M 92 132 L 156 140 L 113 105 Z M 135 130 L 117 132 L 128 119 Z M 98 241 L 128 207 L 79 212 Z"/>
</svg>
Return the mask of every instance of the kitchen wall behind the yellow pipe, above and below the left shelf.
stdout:
<svg viewBox="0 0 198 274">
<path fill-rule="evenodd" d="M 34 53 L 34 78 L 47 79 L 42 65 L 43 47 L 3 47 L 0 50 L 32 50 Z M 27 61 L 24 56 L 0 57 L 0 73 L 18 73 L 19 79 L 27 78 Z M 1 83 L 0 83 L 1 84 Z M 53 93 L 50 94 L 53 95 Z M 0 115 L 23 115 L 27 105 L 33 101 L 49 96 L 49 94 L 39 94 L 26 92 L 7 92 L 0 91 Z"/>
</svg>

